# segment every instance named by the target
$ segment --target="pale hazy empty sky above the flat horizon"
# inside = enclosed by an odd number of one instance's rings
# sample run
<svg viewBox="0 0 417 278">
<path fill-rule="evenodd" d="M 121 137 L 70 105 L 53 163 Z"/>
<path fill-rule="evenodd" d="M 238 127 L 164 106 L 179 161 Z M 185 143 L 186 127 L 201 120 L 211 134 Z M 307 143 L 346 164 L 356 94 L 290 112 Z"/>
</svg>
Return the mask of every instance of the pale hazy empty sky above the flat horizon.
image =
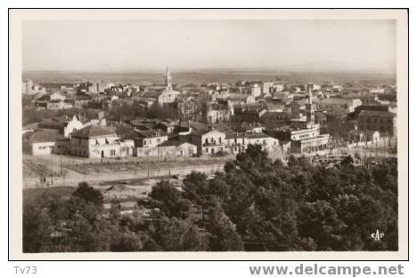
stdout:
<svg viewBox="0 0 417 278">
<path fill-rule="evenodd" d="M 394 20 L 24 21 L 23 70 L 394 71 Z"/>
</svg>

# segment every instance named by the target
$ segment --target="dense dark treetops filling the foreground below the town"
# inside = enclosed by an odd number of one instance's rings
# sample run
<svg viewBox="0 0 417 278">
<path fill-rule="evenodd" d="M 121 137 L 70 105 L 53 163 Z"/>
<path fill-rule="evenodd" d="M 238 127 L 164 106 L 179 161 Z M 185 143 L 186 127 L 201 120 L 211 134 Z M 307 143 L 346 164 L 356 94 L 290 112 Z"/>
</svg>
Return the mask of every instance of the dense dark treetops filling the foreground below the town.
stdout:
<svg viewBox="0 0 417 278">
<path fill-rule="evenodd" d="M 145 221 L 117 203 L 104 213 L 86 183 L 70 199 L 44 195 L 25 204 L 24 251 L 397 250 L 396 160 L 330 168 L 290 157 L 286 166 L 250 146 L 215 177 L 192 172 L 182 191 L 159 182 L 151 200 L 158 213 Z M 66 235 L 52 237 L 60 221 Z"/>
</svg>

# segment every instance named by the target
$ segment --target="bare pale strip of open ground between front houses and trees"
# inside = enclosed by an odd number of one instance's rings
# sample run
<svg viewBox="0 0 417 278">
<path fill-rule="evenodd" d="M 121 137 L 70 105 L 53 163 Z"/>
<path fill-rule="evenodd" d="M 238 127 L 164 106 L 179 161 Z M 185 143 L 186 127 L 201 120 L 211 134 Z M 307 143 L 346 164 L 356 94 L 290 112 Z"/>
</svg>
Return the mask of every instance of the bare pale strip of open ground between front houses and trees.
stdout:
<svg viewBox="0 0 417 278">
<path fill-rule="evenodd" d="M 23 187 L 77 187 L 81 181 L 92 186 L 100 186 L 103 182 L 135 180 L 140 186 L 141 179 L 164 179 L 165 177 L 184 177 L 192 171 L 213 173 L 223 171 L 227 157 L 221 159 L 188 158 L 186 160 L 160 160 L 147 161 L 130 157 L 126 160 L 100 160 L 73 158 L 70 156 L 25 155 L 23 161 L 27 164 L 35 163 L 36 168 L 24 171 Z M 45 171 L 48 170 L 48 171 Z M 51 177 L 51 171 L 53 176 Z M 41 177 L 45 178 L 42 179 Z"/>
</svg>

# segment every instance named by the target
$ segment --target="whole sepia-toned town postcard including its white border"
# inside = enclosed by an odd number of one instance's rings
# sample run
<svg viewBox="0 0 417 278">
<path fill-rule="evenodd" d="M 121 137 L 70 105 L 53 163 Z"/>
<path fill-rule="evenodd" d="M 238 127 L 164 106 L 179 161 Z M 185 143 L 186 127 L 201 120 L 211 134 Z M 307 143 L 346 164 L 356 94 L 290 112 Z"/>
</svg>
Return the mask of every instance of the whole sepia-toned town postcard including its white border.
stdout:
<svg viewBox="0 0 417 278">
<path fill-rule="evenodd" d="M 11 31 L 17 253 L 406 256 L 406 11 L 111 12 Z"/>
</svg>

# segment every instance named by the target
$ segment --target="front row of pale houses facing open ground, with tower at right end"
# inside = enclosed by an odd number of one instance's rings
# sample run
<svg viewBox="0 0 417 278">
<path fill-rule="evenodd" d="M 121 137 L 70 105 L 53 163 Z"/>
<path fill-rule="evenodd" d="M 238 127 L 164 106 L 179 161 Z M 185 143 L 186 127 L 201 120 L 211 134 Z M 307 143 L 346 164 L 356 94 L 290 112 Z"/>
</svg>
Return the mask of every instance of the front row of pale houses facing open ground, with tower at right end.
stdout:
<svg viewBox="0 0 417 278">
<path fill-rule="evenodd" d="M 37 128 L 41 130 L 31 137 L 33 155 L 58 153 L 86 158 L 235 155 L 244 152 L 249 145 L 262 146 L 275 155 L 289 151 L 302 154 L 325 151 L 329 139 L 328 134 L 320 133 L 320 125 L 315 123 L 311 92 L 306 121 L 284 129 L 266 130 L 249 124 L 240 131 L 222 131 L 161 121 L 136 123 L 131 126 L 135 135 L 122 139 L 111 127 L 83 124 L 77 116 L 68 123 L 57 119 L 56 123 L 43 121 Z"/>
</svg>

